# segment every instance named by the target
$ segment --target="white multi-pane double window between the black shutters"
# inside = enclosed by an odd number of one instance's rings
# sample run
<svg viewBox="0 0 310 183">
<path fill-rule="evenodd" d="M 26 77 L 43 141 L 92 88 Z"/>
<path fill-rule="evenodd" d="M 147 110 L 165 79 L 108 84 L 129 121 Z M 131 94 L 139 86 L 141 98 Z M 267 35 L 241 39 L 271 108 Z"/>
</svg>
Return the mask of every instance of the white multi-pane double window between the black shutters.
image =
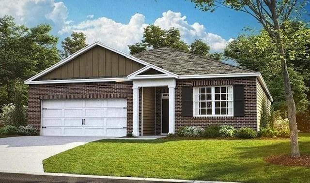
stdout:
<svg viewBox="0 0 310 183">
<path fill-rule="evenodd" d="M 194 116 L 233 116 L 233 87 L 195 87 Z"/>
</svg>

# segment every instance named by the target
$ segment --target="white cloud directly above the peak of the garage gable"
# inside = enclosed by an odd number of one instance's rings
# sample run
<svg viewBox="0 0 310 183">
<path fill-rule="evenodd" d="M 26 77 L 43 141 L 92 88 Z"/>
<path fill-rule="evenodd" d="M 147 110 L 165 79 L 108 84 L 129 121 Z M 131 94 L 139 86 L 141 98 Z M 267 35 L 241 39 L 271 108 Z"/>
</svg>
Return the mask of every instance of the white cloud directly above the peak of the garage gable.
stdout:
<svg viewBox="0 0 310 183">
<path fill-rule="evenodd" d="M 127 45 L 132 45 L 142 40 L 143 29 L 147 26 L 144 21 L 145 17 L 141 14 L 131 16 L 128 24 L 100 17 L 94 20 L 83 21 L 77 25 L 66 26 L 59 33 L 83 32 L 86 35 L 86 42 L 88 44 L 100 41 L 108 46 L 129 52 Z"/>
</svg>

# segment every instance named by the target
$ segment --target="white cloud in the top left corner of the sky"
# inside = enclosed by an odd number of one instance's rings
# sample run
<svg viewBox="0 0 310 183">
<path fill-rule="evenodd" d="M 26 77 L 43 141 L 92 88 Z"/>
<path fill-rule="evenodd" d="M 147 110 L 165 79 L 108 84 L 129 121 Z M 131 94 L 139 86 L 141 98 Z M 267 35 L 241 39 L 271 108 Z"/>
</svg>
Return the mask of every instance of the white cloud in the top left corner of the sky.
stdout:
<svg viewBox="0 0 310 183">
<path fill-rule="evenodd" d="M 51 21 L 56 27 L 69 24 L 68 10 L 55 0 L 0 0 L 0 16 L 12 15 L 18 24 L 37 25 Z"/>
</svg>

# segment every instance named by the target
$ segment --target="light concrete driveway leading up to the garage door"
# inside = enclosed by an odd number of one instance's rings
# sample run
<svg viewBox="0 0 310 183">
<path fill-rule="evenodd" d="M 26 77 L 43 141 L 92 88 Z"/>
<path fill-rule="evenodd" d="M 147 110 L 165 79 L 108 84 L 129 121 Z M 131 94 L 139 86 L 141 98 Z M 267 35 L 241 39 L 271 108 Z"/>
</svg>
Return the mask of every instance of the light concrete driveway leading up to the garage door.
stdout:
<svg viewBox="0 0 310 183">
<path fill-rule="evenodd" d="M 52 155 L 104 137 L 27 136 L 0 138 L 0 172 L 44 172 Z"/>
</svg>

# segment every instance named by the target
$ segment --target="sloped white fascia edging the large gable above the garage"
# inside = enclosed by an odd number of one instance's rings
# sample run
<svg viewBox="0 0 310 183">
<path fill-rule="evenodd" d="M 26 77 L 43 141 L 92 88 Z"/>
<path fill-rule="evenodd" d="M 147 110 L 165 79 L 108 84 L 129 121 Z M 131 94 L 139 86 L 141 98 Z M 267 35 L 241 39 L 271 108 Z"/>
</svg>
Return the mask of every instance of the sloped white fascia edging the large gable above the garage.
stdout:
<svg viewBox="0 0 310 183">
<path fill-rule="evenodd" d="M 78 50 L 77 52 L 73 53 L 72 55 L 70 55 L 69 57 L 63 59 L 62 61 L 59 61 L 58 63 L 50 66 L 49 68 L 47 68 L 46 70 L 40 72 L 39 74 L 35 75 L 35 76 L 32 76 L 31 78 L 27 79 L 26 81 L 24 81 L 25 84 L 29 83 L 29 81 L 33 81 L 34 79 L 37 79 L 45 74 L 47 74 L 48 72 L 51 72 L 52 70 L 62 66 L 63 64 L 67 63 L 68 61 L 71 61 L 72 59 L 76 58 L 78 55 L 84 53 L 85 51 L 93 48 L 94 46 L 101 46 L 101 47 L 104 47 L 106 49 L 109 49 L 115 53 L 118 53 L 120 55 L 123 55 L 125 58 L 128 58 L 130 60 L 133 60 L 133 61 L 137 61 L 138 63 L 141 63 L 143 65 L 149 65 L 149 63 L 145 62 L 145 61 L 141 61 L 140 59 L 137 59 L 127 53 L 124 53 L 122 51 L 118 51 L 110 46 L 107 46 L 107 45 L 104 45 L 103 43 L 100 43 L 100 42 L 94 42 L 93 44 L 89 45 L 89 46 L 85 46 L 84 48 Z"/>
</svg>

